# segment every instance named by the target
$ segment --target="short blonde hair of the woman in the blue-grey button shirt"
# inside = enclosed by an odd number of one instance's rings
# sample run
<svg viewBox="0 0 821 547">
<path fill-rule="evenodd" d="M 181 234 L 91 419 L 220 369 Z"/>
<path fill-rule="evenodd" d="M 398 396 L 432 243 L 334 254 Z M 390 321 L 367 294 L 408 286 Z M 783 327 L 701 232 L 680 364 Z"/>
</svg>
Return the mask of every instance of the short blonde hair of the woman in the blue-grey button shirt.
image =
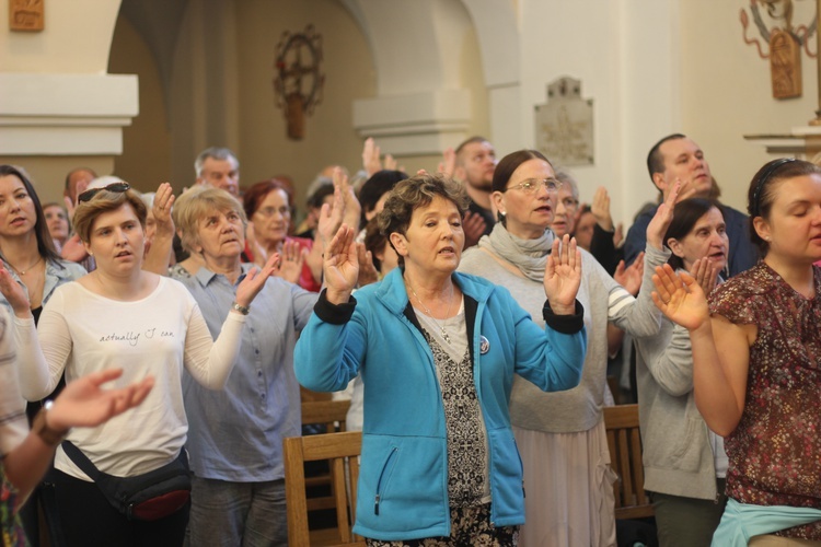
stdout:
<svg viewBox="0 0 821 547">
<path fill-rule="evenodd" d="M 199 221 L 211 211 L 233 211 L 242 219 L 243 226 L 248 223 L 242 205 L 228 191 L 212 186 L 194 186 L 176 199 L 171 211 L 184 249 L 197 253 Z"/>
</svg>

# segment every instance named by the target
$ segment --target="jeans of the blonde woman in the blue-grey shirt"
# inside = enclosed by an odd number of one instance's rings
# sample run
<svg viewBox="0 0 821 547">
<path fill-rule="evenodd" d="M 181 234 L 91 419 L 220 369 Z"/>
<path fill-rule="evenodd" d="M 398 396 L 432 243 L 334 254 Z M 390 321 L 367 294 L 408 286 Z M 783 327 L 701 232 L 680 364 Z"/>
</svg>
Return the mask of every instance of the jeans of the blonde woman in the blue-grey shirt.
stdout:
<svg viewBox="0 0 821 547">
<path fill-rule="evenodd" d="M 285 480 L 229 482 L 192 477 L 187 537 L 192 547 L 288 545 Z"/>
</svg>

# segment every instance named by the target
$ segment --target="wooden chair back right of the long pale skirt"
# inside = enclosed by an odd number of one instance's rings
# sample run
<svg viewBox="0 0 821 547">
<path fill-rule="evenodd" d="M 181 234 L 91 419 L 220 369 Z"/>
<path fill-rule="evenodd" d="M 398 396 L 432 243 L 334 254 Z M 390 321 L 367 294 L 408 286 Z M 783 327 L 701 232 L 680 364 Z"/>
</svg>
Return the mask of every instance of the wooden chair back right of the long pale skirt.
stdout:
<svg viewBox="0 0 821 547">
<path fill-rule="evenodd" d="M 652 504 L 645 492 L 638 405 L 604 407 L 604 427 L 611 466 L 618 475 L 613 484 L 616 519 L 652 516 Z"/>
</svg>

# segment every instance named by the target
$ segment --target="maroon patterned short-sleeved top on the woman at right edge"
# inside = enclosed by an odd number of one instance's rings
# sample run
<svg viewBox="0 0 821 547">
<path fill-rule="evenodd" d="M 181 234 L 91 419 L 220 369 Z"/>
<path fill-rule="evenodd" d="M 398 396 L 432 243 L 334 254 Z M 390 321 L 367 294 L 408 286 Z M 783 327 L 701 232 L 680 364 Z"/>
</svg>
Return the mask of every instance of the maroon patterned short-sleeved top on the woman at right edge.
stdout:
<svg viewBox="0 0 821 547">
<path fill-rule="evenodd" d="M 744 411 L 725 439 L 727 494 L 742 503 L 821 509 L 821 269 L 813 269 L 813 299 L 764 261 L 709 298 L 712 313 L 758 326 Z M 821 539 L 821 522 L 778 535 Z"/>
</svg>

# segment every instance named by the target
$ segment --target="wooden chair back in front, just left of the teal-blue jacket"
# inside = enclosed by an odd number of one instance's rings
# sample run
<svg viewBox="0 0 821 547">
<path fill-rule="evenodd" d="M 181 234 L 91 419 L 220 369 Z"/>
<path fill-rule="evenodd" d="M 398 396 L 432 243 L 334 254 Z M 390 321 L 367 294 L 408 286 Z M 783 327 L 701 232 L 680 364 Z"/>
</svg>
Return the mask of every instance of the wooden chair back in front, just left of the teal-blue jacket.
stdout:
<svg viewBox="0 0 821 547">
<path fill-rule="evenodd" d="M 356 520 L 357 480 L 362 433 L 326 433 L 285 439 L 285 493 L 289 547 L 360 545 L 351 532 Z M 336 507 L 336 528 L 310 531 L 305 499 L 305 462 L 328 461 Z"/>
</svg>

